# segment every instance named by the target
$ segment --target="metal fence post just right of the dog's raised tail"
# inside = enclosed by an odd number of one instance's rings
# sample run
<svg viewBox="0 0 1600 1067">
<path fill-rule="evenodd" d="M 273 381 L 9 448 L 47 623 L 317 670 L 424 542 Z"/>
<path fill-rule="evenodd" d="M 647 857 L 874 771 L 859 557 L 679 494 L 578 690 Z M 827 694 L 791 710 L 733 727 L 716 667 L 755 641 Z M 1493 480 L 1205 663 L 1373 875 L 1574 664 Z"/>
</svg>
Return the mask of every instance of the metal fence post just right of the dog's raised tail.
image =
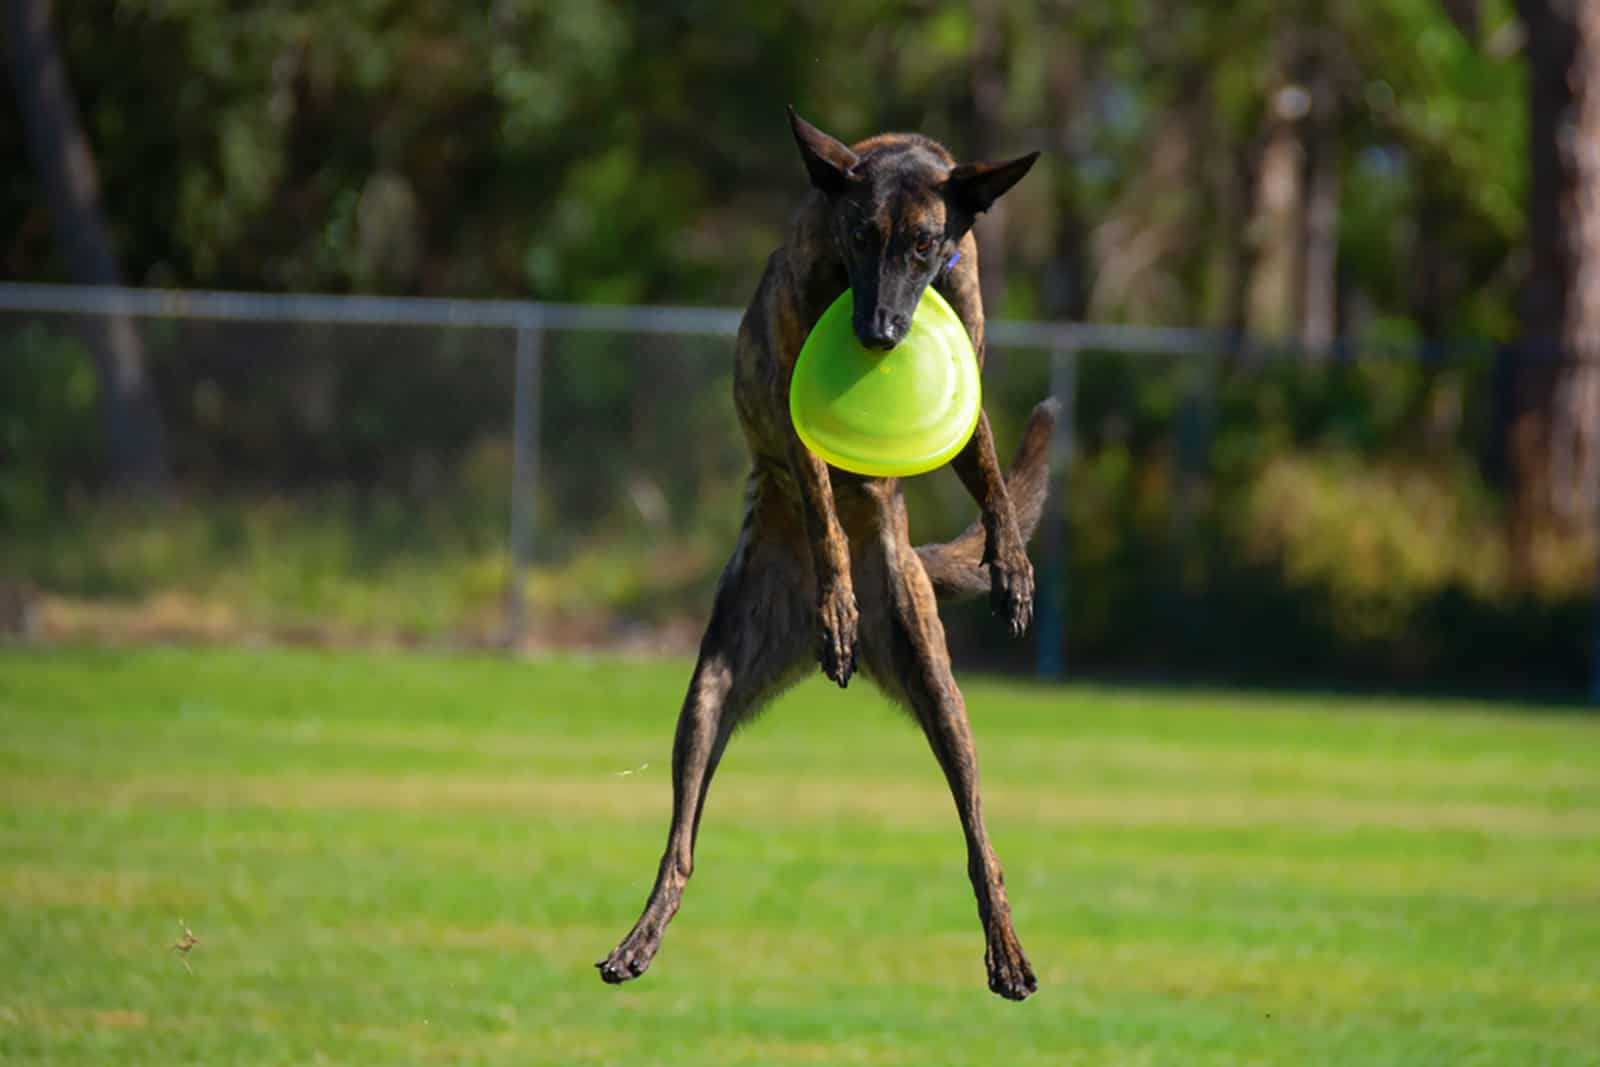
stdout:
<svg viewBox="0 0 1600 1067">
<path fill-rule="evenodd" d="M 1078 346 L 1059 338 L 1050 350 L 1050 395 L 1061 405 L 1056 430 L 1050 438 L 1050 496 L 1045 501 L 1043 566 L 1038 582 L 1038 617 L 1034 622 L 1037 670 L 1042 678 L 1059 678 L 1067 670 L 1067 573 L 1070 525 L 1067 502 L 1072 490 L 1072 438 L 1077 411 Z"/>
</svg>

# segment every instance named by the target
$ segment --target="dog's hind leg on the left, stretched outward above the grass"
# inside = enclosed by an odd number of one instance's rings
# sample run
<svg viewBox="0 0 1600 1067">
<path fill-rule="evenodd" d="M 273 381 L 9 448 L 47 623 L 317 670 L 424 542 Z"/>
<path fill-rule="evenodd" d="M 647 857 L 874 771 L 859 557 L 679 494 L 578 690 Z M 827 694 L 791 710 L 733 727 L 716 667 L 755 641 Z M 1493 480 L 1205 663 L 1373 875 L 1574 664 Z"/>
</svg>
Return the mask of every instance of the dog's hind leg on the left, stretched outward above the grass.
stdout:
<svg viewBox="0 0 1600 1067">
<path fill-rule="evenodd" d="M 747 525 L 723 571 L 672 744 L 672 827 L 656 885 L 634 929 L 597 963 L 618 984 L 650 966 L 694 869 L 694 838 L 712 774 L 734 728 L 805 673 L 811 579 Z"/>
</svg>

